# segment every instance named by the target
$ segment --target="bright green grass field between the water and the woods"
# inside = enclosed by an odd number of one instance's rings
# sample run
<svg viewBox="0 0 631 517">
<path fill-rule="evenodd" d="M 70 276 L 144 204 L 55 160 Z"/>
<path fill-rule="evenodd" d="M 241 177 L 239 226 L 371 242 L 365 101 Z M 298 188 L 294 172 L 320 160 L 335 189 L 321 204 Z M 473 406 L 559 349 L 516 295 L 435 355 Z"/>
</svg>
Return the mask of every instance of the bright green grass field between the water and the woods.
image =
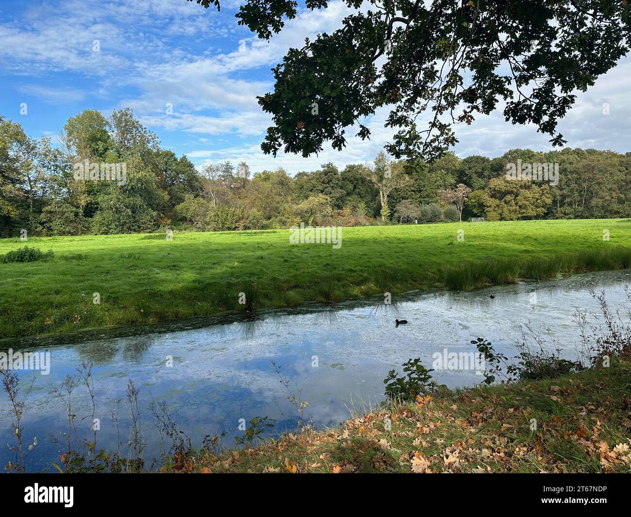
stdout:
<svg viewBox="0 0 631 517">
<path fill-rule="evenodd" d="M 0 254 L 25 244 L 54 258 L 0 263 L 3 338 L 628 268 L 631 220 L 344 228 L 339 249 L 289 230 L 4 239 Z"/>
</svg>

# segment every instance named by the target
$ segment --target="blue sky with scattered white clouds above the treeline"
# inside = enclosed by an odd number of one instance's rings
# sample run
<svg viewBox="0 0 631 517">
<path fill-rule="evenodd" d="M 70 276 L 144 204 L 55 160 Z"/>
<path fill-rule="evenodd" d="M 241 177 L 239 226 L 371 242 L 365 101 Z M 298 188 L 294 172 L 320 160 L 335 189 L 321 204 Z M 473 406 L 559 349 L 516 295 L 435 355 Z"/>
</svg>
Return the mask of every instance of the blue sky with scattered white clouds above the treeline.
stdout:
<svg viewBox="0 0 631 517">
<path fill-rule="evenodd" d="M 350 138 L 341 152 L 325 147 L 310 158 L 274 158 L 260 149 L 271 117 L 256 96 L 273 90 L 271 68 L 305 37 L 338 28 L 350 13 L 345 4 L 301 9 L 269 42 L 237 25 L 238 8 L 236 0 L 222 1 L 219 13 L 185 0 L 0 0 L 0 114 L 30 136 L 55 141 L 68 117 L 83 109 L 107 117 L 130 107 L 163 148 L 198 167 L 245 161 L 252 172 L 283 167 L 293 175 L 326 162 L 372 160 L 394 133 L 384 128 L 387 108 L 365 121 L 370 140 Z M 630 77 L 626 57 L 591 90 L 577 93 L 558 126 L 567 146 L 631 151 Z M 457 126 L 456 136 L 460 157 L 551 148 L 534 126 L 505 122 L 501 109 Z"/>
</svg>

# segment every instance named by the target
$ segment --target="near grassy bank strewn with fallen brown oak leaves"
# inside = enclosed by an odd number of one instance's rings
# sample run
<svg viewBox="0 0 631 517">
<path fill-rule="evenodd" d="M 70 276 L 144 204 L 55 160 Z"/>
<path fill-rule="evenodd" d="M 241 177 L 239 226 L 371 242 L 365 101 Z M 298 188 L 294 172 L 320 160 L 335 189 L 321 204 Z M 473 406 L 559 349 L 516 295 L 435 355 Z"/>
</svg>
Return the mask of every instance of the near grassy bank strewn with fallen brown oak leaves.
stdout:
<svg viewBox="0 0 631 517">
<path fill-rule="evenodd" d="M 442 391 L 352 418 L 341 429 L 188 457 L 161 472 L 628 473 L 630 383 L 631 366 L 618 363 L 546 381 Z"/>
</svg>

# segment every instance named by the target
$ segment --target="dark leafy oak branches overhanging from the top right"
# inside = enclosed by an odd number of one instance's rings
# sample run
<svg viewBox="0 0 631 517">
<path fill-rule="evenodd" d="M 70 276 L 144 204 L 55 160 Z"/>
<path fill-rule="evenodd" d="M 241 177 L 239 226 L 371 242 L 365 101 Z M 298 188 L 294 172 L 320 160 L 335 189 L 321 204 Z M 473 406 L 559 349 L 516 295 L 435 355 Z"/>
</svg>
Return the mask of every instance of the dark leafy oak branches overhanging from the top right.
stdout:
<svg viewBox="0 0 631 517">
<path fill-rule="evenodd" d="M 193 1 L 193 0 L 188 0 Z M 196 0 L 219 8 L 218 0 Z M 327 0 L 306 0 L 307 9 Z M 453 126 L 503 106 L 506 121 L 534 124 L 562 145 L 557 122 L 631 42 L 627 0 L 346 0 L 341 28 L 305 39 L 273 69 L 259 97 L 273 117 L 265 153 L 307 157 L 348 128 L 369 138 L 365 117 L 389 107 L 387 152 L 431 161 L 457 142 Z M 248 0 L 239 25 L 269 39 L 297 16 L 294 0 Z M 428 117 L 420 122 L 419 117 Z"/>
</svg>

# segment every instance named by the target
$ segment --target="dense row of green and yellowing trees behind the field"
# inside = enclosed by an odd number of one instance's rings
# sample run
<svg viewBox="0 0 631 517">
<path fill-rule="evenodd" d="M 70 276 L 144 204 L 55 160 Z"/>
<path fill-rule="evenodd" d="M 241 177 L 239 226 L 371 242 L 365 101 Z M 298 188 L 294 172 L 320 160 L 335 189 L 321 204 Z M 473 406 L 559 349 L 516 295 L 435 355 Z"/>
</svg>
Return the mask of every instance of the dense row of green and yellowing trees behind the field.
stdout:
<svg viewBox="0 0 631 517">
<path fill-rule="evenodd" d="M 0 116 L 0 237 L 21 229 L 38 236 L 631 216 L 631 152 L 514 149 L 498 158 L 447 153 L 432 163 L 379 153 L 342 170 L 324 163 L 315 172 L 251 174 L 230 162 L 197 170 L 129 109 L 109 119 L 84 110 L 59 141 L 33 139 Z M 125 163 L 126 183 L 76 180 L 73 166 L 86 159 Z M 558 186 L 508 181 L 506 165 L 519 159 L 558 163 Z"/>
</svg>

